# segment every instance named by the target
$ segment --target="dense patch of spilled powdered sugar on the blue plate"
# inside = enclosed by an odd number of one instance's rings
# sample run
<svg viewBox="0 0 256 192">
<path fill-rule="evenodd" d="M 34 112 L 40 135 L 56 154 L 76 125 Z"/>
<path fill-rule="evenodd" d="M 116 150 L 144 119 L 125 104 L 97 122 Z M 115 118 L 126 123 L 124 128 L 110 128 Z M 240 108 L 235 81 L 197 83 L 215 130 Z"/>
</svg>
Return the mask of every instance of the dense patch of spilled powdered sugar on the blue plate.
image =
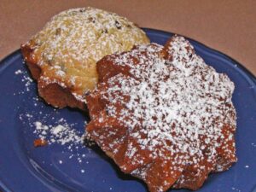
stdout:
<svg viewBox="0 0 256 192">
<path fill-rule="evenodd" d="M 38 116 L 41 116 L 41 118 L 38 119 Z M 20 113 L 19 118 L 22 123 L 28 123 L 35 139 L 42 139 L 49 146 L 53 144 L 63 146 L 64 151 L 71 153 L 69 159 L 77 157 L 78 162 L 86 159 L 85 154 L 77 153 L 79 149 L 85 148 L 83 125 L 81 131 L 78 131 L 76 123 L 67 123 L 66 119 L 57 119 L 41 111 L 36 114 Z M 49 120 L 53 121 L 53 123 L 47 123 Z M 87 122 L 85 121 L 84 125 L 86 124 Z"/>
</svg>

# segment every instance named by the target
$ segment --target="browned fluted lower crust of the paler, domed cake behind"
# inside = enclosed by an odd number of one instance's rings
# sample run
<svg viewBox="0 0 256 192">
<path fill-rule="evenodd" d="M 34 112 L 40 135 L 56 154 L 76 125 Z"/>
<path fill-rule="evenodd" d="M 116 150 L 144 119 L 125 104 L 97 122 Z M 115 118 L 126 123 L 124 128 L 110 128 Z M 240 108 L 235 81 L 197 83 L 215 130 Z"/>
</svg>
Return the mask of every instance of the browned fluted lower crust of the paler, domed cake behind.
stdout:
<svg viewBox="0 0 256 192">
<path fill-rule="evenodd" d="M 54 106 L 55 108 L 79 108 L 83 111 L 86 110 L 85 103 L 76 99 L 72 92 L 68 88 L 63 88 L 57 83 L 45 84 L 44 81 L 40 81 L 40 77 L 43 75 L 41 67 L 34 59 L 33 48 L 29 44 L 21 44 L 20 46 L 26 65 L 29 68 L 32 78 L 38 81 L 38 93 L 39 96 L 44 98 L 44 101 Z"/>
</svg>

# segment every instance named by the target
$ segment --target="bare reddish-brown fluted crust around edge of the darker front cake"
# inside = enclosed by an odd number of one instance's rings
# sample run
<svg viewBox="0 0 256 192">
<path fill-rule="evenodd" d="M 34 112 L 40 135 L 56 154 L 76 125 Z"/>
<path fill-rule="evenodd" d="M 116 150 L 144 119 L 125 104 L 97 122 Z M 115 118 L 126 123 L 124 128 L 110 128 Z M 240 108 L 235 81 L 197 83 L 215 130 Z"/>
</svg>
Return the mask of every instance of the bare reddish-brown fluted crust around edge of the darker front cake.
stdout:
<svg viewBox="0 0 256 192">
<path fill-rule="evenodd" d="M 172 41 L 172 38 L 171 40 L 169 40 L 169 42 L 170 41 Z M 160 55 L 166 58 L 166 60 L 172 61 L 172 55 L 170 55 L 168 51 L 166 51 L 168 48 L 167 46 L 168 44 L 166 44 L 164 49 L 160 51 Z M 192 49 L 192 47 L 186 47 L 186 49 L 190 49 L 191 51 L 189 52 L 194 52 L 194 49 Z M 115 64 L 114 60 L 118 56 L 119 54 L 107 55 L 96 64 L 97 73 L 99 75 L 99 82 L 97 84 L 97 89 L 92 91 L 89 96 L 86 96 L 86 101 L 88 104 L 91 118 L 90 124 L 86 126 L 86 131 L 90 138 L 95 141 L 110 158 L 114 160 L 114 162 L 119 166 L 122 172 L 130 173 L 132 176 L 143 179 L 144 182 L 148 184 L 149 191 L 152 192 L 160 191 L 160 189 L 158 189 L 158 186 L 163 186 L 161 191 L 166 191 L 170 187 L 174 189 L 185 188 L 196 190 L 201 188 L 201 186 L 207 179 L 208 174 L 210 174 L 211 172 L 223 172 L 229 169 L 229 167 L 236 162 L 236 148 L 234 145 L 234 137 L 228 142 L 227 145 L 227 148 L 234 155 L 230 156 L 230 154 L 227 154 L 224 151 L 226 149 L 224 147 L 226 145 L 225 141 L 228 140 L 230 134 L 234 135 L 235 133 L 235 125 L 224 125 L 222 129 L 222 131 L 224 131 L 224 139 L 218 142 L 220 143 L 220 147 L 216 148 L 218 153 L 216 161 L 212 160 L 211 162 L 208 162 L 207 159 L 204 159 L 198 162 L 196 165 L 183 165 L 180 167 L 176 167 L 176 169 L 172 169 L 172 172 L 169 172 L 169 170 L 171 170 L 170 167 L 173 166 L 172 162 L 175 160 L 175 156 L 170 156 L 169 161 L 165 163 L 160 158 L 156 160 L 150 160 L 148 158 L 148 160 L 147 151 L 145 153 L 145 150 L 139 148 L 139 153 L 144 157 L 143 165 L 139 165 L 137 164 L 137 162 L 134 161 L 134 164 L 132 164 L 131 160 L 134 159 L 126 159 L 124 153 L 127 149 L 127 143 L 132 142 L 131 137 L 129 137 L 129 132 L 126 132 L 128 128 L 126 128 L 125 125 L 121 123 L 121 121 L 124 121 L 124 119 L 118 119 L 113 117 L 112 115 L 108 115 L 108 108 L 106 109 L 105 106 L 108 105 L 108 103 L 112 102 L 112 100 L 105 99 L 108 98 L 108 96 L 106 96 L 105 98 L 104 96 L 102 96 L 105 94 L 105 92 L 107 92 L 106 90 L 108 90 L 108 79 L 119 73 L 121 73 L 123 76 L 132 75 L 129 73 L 129 65 L 123 66 Z M 135 59 L 133 59 L 133 62 L 131 63 L 133 65 L 137 64 Z M 110 86 L 114 85 L 111 84 Z M 227 116 L 236 119 L 236 113 L 234 108 L 231 105 L 229 107 L 230 111 L 229 115 Z M 116 110 L 119 110 L 119 108 L 124 107 L 122 104 L 117 104 L 116 108 Z M 101 120 L 98 117 L 101 117 Z M 108 134 L 108 132 L 111 132 L 111 134 Z M 113 141 L 117 142 L 113 143 Z M 112 145 L 109 145 L 109 143 L 112 143 Z M 118 150 L 114 152 L 114 149 Z M 204 155 L 207 155 L 208 152 L 207 150 L 205 150 L 202 151 L 202 153 Z M 181 168 L 182 171 L 179 171 L 178 168 Z M 167 181 L 167 184 L 164 183 L 165 180 Z"/>
</svg>

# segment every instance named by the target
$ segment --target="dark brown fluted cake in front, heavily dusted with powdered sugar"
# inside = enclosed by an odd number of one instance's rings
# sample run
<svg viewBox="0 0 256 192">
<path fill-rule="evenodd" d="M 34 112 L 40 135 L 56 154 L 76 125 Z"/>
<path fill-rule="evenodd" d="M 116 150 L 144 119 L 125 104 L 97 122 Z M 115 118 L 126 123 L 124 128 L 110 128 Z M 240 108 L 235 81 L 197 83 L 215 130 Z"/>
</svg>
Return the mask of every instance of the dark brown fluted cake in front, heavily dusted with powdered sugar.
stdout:
<svg viewBox="0 0 256 192">
<path fill-rule="evenodd" d="M 199 189 L 236 162 L 234 84 L 172 37 L 97 62 L 87 136 L 151 192 Z"/>
</svg>

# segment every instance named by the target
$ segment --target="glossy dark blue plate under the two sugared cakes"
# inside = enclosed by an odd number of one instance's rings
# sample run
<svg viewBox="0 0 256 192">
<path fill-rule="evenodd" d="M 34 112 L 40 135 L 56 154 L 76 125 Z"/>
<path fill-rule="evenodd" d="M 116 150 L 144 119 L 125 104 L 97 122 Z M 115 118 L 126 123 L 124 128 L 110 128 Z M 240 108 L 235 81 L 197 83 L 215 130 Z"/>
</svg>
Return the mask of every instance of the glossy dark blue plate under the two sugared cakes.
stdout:
<svg viewBox="0 0 256 192">
<path fill-rule="evenodd" d="M 153 29 L 144 31 L 158 44 L 165 44 L 173 35 Z M 198 191 L 256 191 L 256 79 L 229 56 L 194 40 L 190 42 L 207 64 L 218 73 L 227 73 L 236 84 L 233 102 L 237 111 L 238 162 L 227 172 L 212 174 Z M 34 148 L 33 141 L 37 138 L 33 133 L 34 121 L 55 125 L 63 118 L 82 134 L 88 116 L 69 108 L 56 110 L 38 100 L 36 84 L 27 79 L 28 76 L 20 50 L 1 61 L 0 189 L 17 192 L 147 191 L 143 182 L 120 172 L 99 148 L 79 145 L 67 148 L 56 143 Z"/>
</svg>

